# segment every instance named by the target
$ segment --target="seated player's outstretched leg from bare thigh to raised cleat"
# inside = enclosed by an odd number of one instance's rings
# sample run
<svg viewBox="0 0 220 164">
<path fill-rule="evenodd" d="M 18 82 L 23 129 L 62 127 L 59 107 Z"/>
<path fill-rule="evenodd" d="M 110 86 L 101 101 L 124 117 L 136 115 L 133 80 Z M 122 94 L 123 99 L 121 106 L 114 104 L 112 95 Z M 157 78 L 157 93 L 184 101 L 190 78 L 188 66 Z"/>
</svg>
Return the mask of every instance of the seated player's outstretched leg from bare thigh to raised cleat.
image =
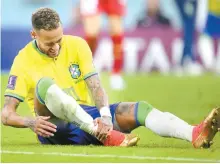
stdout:
<svg viewBox="0 0 220 164">
<path fill-rule="evenodd" d="M 163 137 L 174 137 L 192 142 L 195 148 L 208 148 L 220 130 L 220 108 L 215 108 L 199 125 L 191 126 L 177 116 L 161 112 L 147 102 L 123 102 L 115 113 L 117 130 L 129 132 L 145 126 Z M 117 127 L 115 126 L 115 127 Z"/>
</svg>

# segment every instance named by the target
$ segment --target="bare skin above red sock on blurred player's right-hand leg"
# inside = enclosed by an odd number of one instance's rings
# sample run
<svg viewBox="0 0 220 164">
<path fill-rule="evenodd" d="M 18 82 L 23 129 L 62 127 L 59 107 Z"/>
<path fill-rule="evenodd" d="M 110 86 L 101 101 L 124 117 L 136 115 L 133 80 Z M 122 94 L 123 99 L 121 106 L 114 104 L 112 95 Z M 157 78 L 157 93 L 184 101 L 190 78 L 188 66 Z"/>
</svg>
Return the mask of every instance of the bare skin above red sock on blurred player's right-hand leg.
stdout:
<svg viewBox="0 0 220 164">
<path fill-rule="evenodd" d="M 111 35 L 120 35 L 124 32 L 122 17 L 120 15 L 109 15 L 108 20 Z"/>
</svg>

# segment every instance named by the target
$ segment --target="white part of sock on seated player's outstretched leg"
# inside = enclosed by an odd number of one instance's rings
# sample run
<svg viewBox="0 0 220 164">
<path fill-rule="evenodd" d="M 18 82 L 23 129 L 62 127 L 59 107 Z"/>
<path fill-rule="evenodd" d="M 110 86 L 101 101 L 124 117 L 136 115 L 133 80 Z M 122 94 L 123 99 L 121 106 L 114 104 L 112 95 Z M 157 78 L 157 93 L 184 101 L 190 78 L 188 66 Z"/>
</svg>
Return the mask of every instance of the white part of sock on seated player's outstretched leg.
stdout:
<svg viewBox="0 0 220 164">
<path fill-rule="evenodd" d="M 161 112 L 154 108 L 147 115 L 145 126 L 163 137 L 192 141 L 193 126 L 168 112 Z"/>
</svg>

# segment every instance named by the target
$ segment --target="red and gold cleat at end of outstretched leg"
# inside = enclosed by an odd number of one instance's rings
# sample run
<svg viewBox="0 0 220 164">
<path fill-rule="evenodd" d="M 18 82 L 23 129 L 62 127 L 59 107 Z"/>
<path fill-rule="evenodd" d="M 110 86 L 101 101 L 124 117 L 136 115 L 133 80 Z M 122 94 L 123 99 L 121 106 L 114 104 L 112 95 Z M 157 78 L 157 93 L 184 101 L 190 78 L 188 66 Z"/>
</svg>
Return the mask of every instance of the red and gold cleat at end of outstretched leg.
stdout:
<svg viewBox="0 0 220 164">
<path fill-rule="evenodd" d="M 203 122 L 194 127 L 192 133 L 193 146 L 195 148 L 209 148 L 218 131 L 220 131 L 220 107 L 214 108 Z"/>
</svg>

